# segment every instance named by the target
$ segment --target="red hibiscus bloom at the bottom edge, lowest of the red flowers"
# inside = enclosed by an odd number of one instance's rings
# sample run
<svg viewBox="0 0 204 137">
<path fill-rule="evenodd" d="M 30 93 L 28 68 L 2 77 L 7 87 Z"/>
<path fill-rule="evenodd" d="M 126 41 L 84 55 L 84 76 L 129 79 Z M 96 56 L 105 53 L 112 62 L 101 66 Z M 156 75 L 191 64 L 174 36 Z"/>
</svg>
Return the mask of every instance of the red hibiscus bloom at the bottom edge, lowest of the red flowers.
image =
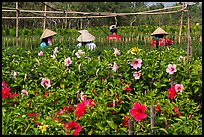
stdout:
<svg viewBox="0 0 204 137">
<path fill-rule="evenodd" d="M 75 130 L 72 135 L 79 135 L 79 132 L 81 131 L 81 126 L 76 121 L 64 124 L 63 128 L 65 128 L 67 134 L 70 134 L 70 130 L 74 128 Z"/>
</svg>

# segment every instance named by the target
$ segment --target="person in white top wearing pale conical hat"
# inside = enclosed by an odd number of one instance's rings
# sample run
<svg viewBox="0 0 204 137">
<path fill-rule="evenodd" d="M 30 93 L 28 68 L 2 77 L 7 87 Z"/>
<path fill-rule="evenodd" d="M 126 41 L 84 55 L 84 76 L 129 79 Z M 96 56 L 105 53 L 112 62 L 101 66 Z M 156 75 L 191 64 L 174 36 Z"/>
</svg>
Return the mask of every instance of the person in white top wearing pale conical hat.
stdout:
<svg viewBox="0 0 204 137">
<path fill-rule="evenodd" d="M 80 42 L 77 44 L 77 47 L 85 46 L 91 50 L 96 48 L 96 45 L 93 43 L 95 37 L 89 33 L 88 30 L 80 30 L 78 32 L 81 33 L 81 35 L 77 38 L 77 41 Z"/>
</svg>

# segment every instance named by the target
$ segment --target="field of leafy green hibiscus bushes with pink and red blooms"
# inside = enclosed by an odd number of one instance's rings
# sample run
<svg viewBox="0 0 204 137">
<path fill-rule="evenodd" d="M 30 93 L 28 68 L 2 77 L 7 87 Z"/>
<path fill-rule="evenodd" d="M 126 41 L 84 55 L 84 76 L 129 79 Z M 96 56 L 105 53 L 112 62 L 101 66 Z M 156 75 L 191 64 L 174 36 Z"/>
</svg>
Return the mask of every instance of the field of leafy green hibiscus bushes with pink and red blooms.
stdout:
<svg viewBox="0 0 204 137">
<path fill-rule="evenodd" d="M 96 45 L 3 48 L 2 134 L 128 135 L 128 121 L 135 135 L 202 134 L 202 56 Z"/>
</svg>

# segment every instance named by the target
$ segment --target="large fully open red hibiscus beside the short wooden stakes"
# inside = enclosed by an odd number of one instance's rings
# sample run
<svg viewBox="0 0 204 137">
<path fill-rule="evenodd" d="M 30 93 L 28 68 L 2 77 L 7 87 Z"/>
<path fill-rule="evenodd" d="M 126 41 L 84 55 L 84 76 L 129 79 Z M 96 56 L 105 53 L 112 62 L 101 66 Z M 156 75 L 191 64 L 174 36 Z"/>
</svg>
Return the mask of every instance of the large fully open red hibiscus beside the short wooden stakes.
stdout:
<svg viewBox="0 0 204 137">
<path fill-rule="evenodd" d="M 133 108 L 130 110 L 130 115 L 136 120 L 140 121 L 147 117 L 145 114 L 145 105 L 140 105 L 138 102 L 134 103 Z"/>
</svg>

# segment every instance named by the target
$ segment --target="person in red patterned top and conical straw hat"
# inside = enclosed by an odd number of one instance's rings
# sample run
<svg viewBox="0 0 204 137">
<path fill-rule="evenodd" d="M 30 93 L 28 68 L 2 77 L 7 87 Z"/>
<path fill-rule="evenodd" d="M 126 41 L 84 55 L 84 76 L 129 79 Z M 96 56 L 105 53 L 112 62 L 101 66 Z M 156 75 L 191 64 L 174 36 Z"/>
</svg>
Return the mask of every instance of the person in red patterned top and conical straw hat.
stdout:
<svg viewBox="0 0 204 137">
<path fill-rule="evenodd" d="M 156 40 L 151 42 L 151 46 L 168 46 L 172 45 L 173 41 L 167 38 L 164 38 L 165 35 L 169 35 L 166 31 L 164 31 L 162 28 L 157 28 L 151 36 L 155 36 Z"/>
</svg>

